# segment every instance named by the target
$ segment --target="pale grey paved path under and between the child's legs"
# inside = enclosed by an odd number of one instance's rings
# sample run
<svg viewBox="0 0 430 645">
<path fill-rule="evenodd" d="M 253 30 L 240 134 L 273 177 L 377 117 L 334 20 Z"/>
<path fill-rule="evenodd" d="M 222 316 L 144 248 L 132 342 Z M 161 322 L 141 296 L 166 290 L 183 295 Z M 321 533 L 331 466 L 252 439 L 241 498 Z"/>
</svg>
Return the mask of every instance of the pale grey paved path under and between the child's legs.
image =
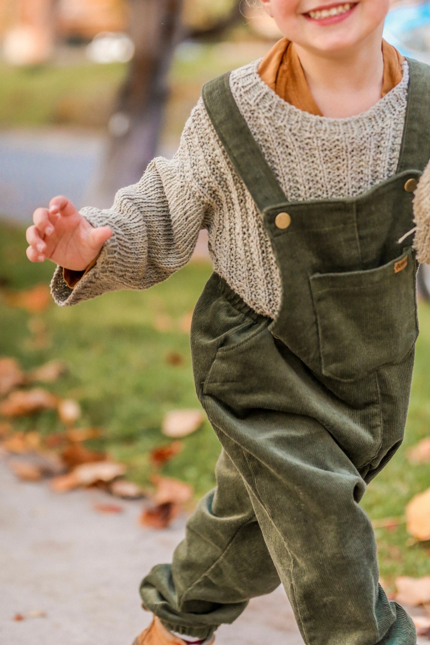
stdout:
<svg viewBox="0 0 430 645">
<path fill-rule="evenodd" d="M 137 526 L 141 502 L 103 515 L 97 490 L 52 493 L 46 483 L 17 481 L 0 459 L 0 643 L 7 645 L 130 645 L 148 624 L 137 589 L 142 575 L 168 562 L 184 535 Z M 46 618 L 13 620 L 44 611 Z M 282 588 L 253 600 L 217 645 L 303 645 Z"/>
</svg>

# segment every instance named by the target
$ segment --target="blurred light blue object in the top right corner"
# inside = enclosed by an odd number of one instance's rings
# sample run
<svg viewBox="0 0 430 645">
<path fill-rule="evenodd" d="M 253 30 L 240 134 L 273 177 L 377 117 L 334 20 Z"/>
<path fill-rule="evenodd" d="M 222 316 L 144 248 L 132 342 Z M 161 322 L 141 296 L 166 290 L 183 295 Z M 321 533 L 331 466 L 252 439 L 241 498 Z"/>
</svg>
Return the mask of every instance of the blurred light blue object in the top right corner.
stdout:
<svg viewBox="0 0 430 645">
<path fill-rule="evenodd" d="M 430 63 L 430 2 L 393 8 L 383 36 L 400 54 Z"/>
</svg>

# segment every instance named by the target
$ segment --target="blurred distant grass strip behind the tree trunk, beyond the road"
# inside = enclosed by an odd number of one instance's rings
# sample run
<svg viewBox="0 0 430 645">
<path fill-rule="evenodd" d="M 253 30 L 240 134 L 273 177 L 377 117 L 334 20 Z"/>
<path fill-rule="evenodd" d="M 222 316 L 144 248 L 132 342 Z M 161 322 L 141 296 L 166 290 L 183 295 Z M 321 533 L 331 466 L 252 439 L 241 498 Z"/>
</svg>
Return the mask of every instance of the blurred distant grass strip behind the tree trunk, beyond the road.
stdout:
<svg viewBox="0 0 430 645">
<path fill-rule="evenodd" d="M 257 59 L 268 48 L 259 42 L 208 44 L 197 46 L 187 60 L 178 56 L 169 77 L 171 95 L 164 128 L 168 143 L 172 139 L 177 143 L 203 83 Z M 83 62 L 20 68 L 0 63 L 0 128 L 104 128 L 126 74 L 125 64 Z"/>
</svg>

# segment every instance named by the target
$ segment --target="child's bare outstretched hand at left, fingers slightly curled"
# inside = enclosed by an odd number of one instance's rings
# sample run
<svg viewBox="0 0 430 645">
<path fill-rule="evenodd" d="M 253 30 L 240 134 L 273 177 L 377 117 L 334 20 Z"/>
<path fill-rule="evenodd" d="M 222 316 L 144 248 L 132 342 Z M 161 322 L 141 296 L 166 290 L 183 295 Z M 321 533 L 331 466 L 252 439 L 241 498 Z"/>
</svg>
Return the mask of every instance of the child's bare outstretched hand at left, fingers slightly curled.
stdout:
<svg viewBox="0 0 430 645">
<path fill-rule="evenodd" d="M 26 232 L 28 259 L 50 259 L 72 271 L 84 271 L 112 235 L 109 226 L 93 228 L 66 197 L 54 197 L 49 209 L 37 208 L 33 221 Z"/>
</svg>

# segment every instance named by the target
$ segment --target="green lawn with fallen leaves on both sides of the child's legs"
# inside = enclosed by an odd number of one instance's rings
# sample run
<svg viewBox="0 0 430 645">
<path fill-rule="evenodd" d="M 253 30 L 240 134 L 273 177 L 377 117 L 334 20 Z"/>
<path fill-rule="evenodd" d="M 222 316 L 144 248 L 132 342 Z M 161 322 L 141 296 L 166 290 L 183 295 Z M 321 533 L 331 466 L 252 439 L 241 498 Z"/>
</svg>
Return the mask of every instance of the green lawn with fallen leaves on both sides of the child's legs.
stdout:
<svg viewBox="0 0 430 645">
<path fill-rule="evenodd" d="M 48 283 L 53 265 L 30 264 L 21 228 L 0 225 L 0 279 L 9 289 Z M 81 403 L 81 426 L 104 428 L 104 439 L 93 443 L 128 464 L 132 479 L 146 483 L 153 471 L 148 450 L 168 442 L 161 433 L 164 413 L 199 406 L 191 374 L 189 337 L 179 329 L 210 275 L 208 264 L 189 264 L 147 292 L 106 294 L 71 308 L 54 304 L 39 316 L 9 308 L 0 299 L 0 355 L 14 356 L 29 369 L 50 359 L 62 359 L 69 372 L 50 388 Z M 169 332 L 157 331 L 153 321 L 168 315 Z M 406 439 L 364 496 L 372 519 L 402 517 L 411 497 L 430 486 L 430 464 L 411 465 L 406 450 L 430 434 L 430 306 L 420 303 L 421 333 Z M 46 325 L 42 336 L 34 333 Z M 33 331 L 32 331 L 33 330 Z M 40 332 L 39 332 L 40 334 Z M 43 344 L 46 346 L 43 346 Z M 40 346 L 42 345 L 42 346 Z M 181 366 L 166 361 L 170 352 L 183 357 Z M 54 413 L 23 419 L 17 429 L 57 432 Z M 199 496 L 214 483 L 213 468 L 219 442 L 208 422 L 183 440 L 184 449 L 162 472 L 190 482 Z M 381 575 L 392 589 L 398 575 L 429 575 L 430 544 L 411 543 L 404 524 L 393 530 L 376 529 Z"/>
</svg>

